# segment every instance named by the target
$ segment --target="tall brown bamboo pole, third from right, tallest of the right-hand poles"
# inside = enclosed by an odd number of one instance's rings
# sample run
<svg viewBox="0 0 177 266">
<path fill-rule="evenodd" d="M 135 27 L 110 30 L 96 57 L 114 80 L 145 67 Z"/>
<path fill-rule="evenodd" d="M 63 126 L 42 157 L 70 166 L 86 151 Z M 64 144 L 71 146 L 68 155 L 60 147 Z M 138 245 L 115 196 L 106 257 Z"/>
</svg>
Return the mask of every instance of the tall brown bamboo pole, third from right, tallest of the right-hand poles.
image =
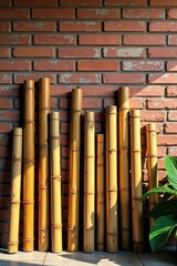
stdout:
<svg viewBox="0 0 177 266">
<path fill-rule="evenodd" d="M 119 216 L 121 216 L 121 246 L 129 250 L 129 145 L 128 145 L 128 115 L 129 88 L 119 89 L 118 95 L 118 147 L 119 147 Z"/>
</svg>

